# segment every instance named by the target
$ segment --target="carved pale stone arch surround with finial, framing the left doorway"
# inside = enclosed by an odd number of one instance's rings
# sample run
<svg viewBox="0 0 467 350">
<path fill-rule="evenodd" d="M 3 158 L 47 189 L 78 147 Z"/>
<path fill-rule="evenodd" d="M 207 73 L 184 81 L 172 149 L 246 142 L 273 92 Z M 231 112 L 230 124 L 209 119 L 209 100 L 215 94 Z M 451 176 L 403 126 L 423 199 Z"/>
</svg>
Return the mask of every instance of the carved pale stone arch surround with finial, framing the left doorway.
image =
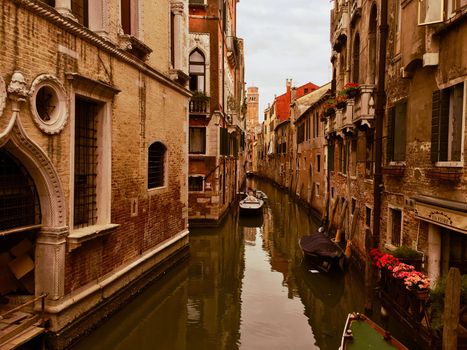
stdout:
<svg viewBox="0 0 467 350">
<path fill-rule="evenodd" d="M 25 101 L 24 78 L 13 74 L 8 88 L 12 114 L 0 131 L 0 148 L 11 154 L 34 182 L 41 208 L 41 227 L 35 242 L 35 295 L 48 299 L 64 294 L 65 243 L 68 235 L 66 201 L 60 178 L 47 154 L 26 134 L 19 119 Z"/>
</svg>

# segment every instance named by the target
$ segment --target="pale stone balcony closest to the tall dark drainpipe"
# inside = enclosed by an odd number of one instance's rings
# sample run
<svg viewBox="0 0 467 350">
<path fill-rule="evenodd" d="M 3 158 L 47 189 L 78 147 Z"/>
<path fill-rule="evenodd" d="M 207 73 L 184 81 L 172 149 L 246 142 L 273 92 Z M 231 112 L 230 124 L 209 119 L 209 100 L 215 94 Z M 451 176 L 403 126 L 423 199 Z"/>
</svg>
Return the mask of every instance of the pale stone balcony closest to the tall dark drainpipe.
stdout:
<svg viewBox="0 0 467 350">
<path fill-rule="evenodd" d="M 361 85 L 360 95 L 347 100 L 347 112 L 353 123 L 368 123 L 375 119 L 375 85 Z"/>
</svg>

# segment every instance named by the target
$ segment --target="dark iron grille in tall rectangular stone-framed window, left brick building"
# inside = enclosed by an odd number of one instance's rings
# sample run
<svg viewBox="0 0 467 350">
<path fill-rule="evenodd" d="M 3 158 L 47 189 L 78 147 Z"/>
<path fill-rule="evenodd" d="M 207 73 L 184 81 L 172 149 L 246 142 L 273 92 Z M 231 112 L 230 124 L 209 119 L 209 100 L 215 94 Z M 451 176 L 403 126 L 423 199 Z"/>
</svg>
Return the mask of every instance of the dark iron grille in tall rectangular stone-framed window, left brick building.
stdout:
<svg viewBox="0 0 467 350">
<path fill-rule="evenodd" d="M 97 112 L 98 104 L 76 100 L 74 227 L 97 222 Z"/>
</svg>

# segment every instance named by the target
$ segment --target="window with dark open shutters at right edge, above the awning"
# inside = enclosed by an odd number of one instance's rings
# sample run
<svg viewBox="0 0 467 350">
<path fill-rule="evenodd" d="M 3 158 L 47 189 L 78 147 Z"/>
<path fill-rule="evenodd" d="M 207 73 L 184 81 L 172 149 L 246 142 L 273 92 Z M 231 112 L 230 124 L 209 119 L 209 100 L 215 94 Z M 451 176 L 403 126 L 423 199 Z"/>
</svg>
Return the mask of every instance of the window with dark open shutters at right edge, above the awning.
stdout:
<svg viewBox="0 0 467 350">
<path fill-rule="evenodd" d="M 464 83 L 433 93 L 431 160 L 462 161 Z"/>
</svg>

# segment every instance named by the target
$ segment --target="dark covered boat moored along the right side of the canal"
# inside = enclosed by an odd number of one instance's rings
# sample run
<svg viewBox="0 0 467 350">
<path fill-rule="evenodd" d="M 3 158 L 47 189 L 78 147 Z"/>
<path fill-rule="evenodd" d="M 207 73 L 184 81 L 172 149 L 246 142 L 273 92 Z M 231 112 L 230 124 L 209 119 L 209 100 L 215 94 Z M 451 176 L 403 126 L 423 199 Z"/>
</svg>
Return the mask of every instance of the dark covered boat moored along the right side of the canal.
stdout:
<svg viewBox="0 0 467 350">
<path fill-rule="evenodd" d="M 298 244 L 304 256 L 320 270 L 329 272 L 337 266 L 344 270 L 344 252 L 321 231 L 321 228 L 312 235 L 300 238 Z"/>
</svg>

